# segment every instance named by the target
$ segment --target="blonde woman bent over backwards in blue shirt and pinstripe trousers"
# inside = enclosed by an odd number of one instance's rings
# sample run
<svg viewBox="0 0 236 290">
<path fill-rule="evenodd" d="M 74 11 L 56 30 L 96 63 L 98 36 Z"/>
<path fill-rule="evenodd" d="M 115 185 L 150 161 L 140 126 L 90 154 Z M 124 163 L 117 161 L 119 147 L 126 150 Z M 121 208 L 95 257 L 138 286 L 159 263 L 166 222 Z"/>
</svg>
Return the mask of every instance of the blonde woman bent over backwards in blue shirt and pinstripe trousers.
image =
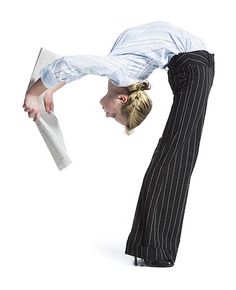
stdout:
<svg viewBox="0 0 236 290">
<path fill-rule="evenodd" d="M 24 109 L 39 117 L 38 97 L 53 110 L 53 92 L 86 74 L 108 77 L 100 103 L 107 117 L 127 134 L 152 108 L 146 80 L 156 68 L 168 70 L 174 99 L 162 137 L 143 179 L 125 253 L 142 265 L 171 267 L 180 242 L 190 178 L 198 155 L 208 96 L 214 78 L 214 54 L 198 37 L 167 22 L 125 30 L 106 56 L 75 55 L 57 59 L 41 71 L 26 93 Z"/>
</svg>

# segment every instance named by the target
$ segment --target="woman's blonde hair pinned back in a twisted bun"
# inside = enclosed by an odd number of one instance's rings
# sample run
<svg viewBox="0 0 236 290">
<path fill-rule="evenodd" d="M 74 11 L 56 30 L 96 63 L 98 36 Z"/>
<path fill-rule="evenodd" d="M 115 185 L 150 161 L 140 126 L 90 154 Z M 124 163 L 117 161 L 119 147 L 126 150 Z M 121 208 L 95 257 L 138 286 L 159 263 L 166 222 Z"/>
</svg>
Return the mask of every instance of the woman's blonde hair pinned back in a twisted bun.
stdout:
<svg viewBox="0 0 236 290">
<path fill-rule="evenodd" d="M 128 101 L 121 107 L 121 113 L 127 118 L 125 133 L 130 135 L 139 126 L 152 109 L 152 100 L 144 90 L 150 90 L 147 80 L 134 83 L 127 87 Z"/>
</svg>

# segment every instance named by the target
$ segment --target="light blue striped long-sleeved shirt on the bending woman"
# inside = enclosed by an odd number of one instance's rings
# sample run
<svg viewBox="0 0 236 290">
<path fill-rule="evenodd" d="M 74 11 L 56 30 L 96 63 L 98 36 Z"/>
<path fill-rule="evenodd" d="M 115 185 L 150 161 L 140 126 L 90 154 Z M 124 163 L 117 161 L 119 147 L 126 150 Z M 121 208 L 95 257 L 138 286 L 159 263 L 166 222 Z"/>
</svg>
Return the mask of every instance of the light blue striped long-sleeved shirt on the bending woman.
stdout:
<svg viewBox="0 0 236 290">
<path fill-rule="evenodd" d="M 105 56 L 71 55 L 61 57 L 41 70 L 45 87 L 66 83 L 87 74 L 106 76 L 121 87 L 147 79 L 156 68 L 164 69 L 174 55 L 206 50 L 205 42 L 163 21 L 131 27 L 116 39 Z"/>
</svg>

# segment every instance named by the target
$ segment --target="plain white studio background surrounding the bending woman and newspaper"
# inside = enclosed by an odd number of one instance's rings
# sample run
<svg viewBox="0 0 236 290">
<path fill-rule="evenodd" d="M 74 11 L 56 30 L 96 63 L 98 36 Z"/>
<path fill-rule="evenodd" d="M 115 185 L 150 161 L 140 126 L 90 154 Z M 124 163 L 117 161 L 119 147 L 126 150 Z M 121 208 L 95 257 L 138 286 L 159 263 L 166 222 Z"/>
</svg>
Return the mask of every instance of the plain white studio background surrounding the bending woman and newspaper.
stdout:
<svg viewBox="0 0 236 290">
<path fill-rule="evenodd" d="M 1 4 L 0 289 L 235 289 L 234 1 L 5 1 Z M 22 108 L 40 47 L 107 54 L 126 28 L 169 21 L 215 53 L 198 160 L 172 268 L 125 255 L 143 176 L 172 104 L 166 71 L 150 76 L 153 109 L 131 136 L 105 118 L 107 79 L 55 93 L 72 164 L 58 171 Z"/>
</svg>

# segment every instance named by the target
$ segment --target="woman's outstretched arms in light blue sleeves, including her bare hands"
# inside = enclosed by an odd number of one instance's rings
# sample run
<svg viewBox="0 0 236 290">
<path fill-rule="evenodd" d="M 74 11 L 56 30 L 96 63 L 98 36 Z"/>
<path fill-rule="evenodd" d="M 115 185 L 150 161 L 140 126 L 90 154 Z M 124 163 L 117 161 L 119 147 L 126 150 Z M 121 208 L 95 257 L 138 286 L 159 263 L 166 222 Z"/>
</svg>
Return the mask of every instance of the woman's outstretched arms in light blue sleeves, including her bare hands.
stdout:
<svg viewBox="0 0 236 290">
<path fill-rule="evenodd" d="M 49 113 L 53 107 L 52 93 L 87 74 L 107 76 L 117 85 L 125 80 L 123 64 L 115 56 L 64 56 L 41 70 L 41 78 L 26 93 L 23 104 L 25 111 L 34 121 L 39 118 L 38 99 L 45 94 L 45 108 Z"/>
</svg>

